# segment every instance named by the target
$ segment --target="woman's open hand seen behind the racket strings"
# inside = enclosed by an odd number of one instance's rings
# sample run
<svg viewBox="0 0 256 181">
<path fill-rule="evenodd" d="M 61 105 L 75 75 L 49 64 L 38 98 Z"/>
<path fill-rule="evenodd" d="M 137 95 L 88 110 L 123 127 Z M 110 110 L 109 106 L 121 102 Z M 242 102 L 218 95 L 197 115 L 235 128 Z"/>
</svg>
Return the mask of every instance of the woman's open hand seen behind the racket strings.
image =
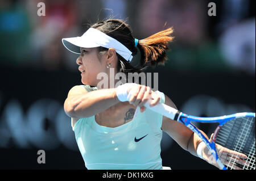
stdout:
<svg viewBox="0 0 256 181">
<path fill-rule="evenodd" d="M 209 142 L 212 142 L 212 137 L 213 137 L 213 134 L 210 136 Z M 218 144 L 216 144 L 216 151 L 221 162 L 224 163 L 224 165 L 230 165 L 230 166 L 232 165 L 233 169 L 242 170 L 241 167 L 238 167 L 236 165 L 237 163 L 242 167 L 247 164 L 245 161 L 247 156 L 245 154 L 239 153 L 238 151 L 230 150 Z M 207 161 L 208 163 L 218 167 L 218 169 L 222 169 L 220 168 L 220 166 L 218 166 L 218 163 L 216 162 L 215 158 L 210 153 L 206 145 L 204 145 L 203 147 L 202 156 L 205 159 L 205 161 Z"/>
</svg>

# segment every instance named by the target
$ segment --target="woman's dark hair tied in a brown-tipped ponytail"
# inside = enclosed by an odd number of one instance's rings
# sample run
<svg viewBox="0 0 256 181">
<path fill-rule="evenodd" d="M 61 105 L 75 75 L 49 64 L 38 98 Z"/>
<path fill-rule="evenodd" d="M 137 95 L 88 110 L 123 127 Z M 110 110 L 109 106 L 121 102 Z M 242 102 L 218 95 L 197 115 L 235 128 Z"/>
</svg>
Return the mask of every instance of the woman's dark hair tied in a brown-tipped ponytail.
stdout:
<svg viewBox="0 0 256 181">
<path fill-rule="evenodd" d="M 103 20 L 93 24 L 91 27 L 104 32 L 106 35 L 113 37 L 115 40 L 125 45 L 125 47 L 132 52 L 132 56 L 135 56 L 138 53 L 138 49 L 140 50 L 141 68 L 134 67 L 129 61 L 126 61 L 125 58 L 117 53 L 119 58 L 118 72 L 123 72 L 126 76 L 129 72 L 141 73 L 148 66 L 155 67 L 158 64 L 164 65 L 164 62 L 167 60 L 166 50 L 169 49 L 168 43 L 174 38 L 171 36 L 173 29 L 168 28 L 145 39 L 139 40 L 137 49 L 134 44 L 135 38 L 132 35 L 131 28 L 121 19 Z M 99 47 L 98 50 L 99 52 L 102 52 L 108 49 Z"/>
</svg>

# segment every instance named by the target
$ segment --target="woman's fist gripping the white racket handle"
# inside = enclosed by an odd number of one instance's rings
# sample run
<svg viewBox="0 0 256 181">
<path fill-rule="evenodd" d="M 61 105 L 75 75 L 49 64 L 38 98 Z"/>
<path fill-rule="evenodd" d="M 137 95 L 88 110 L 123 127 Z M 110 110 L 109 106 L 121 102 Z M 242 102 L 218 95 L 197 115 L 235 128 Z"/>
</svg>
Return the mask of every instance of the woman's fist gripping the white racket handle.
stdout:
<svg viewBox="0 0 256 181">
<path fill-rule="evenodd" d="M 141 112 L 146 110 L 144 104 L 147 100 L 152 100 L 150 106 L 155 106 L 160 102 L 160 96 L 152 91 L 149 86 L 133 84 L 127 89 L 127 92 L 129 94 L 129 103 L 141 107 Z"/>
</svg>

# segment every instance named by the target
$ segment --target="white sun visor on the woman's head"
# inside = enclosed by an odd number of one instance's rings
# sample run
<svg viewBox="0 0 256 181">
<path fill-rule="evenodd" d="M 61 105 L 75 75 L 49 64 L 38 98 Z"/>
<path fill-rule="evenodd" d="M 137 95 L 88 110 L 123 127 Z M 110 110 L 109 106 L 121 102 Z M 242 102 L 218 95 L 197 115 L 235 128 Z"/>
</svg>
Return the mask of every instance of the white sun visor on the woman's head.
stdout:
<svg viewBox="0 0 256 181">
<path fill-rule="evenodd" d="M 62 39 L 62 43 L 65 48 L 73 53 L 80 54 L 81 48 L 94 48 L 94 47 L 105 47 L 114 48 L 115 52 L 121 55 L 125 60 L 131 61 L 133 56 L 131 51 L 121 44 L 119 41 L 106 35 L 104 32 L 96 30 L 95 28 L 89 28 L 84 35 L 77 37 L 68 37 Z"/>
</svg>

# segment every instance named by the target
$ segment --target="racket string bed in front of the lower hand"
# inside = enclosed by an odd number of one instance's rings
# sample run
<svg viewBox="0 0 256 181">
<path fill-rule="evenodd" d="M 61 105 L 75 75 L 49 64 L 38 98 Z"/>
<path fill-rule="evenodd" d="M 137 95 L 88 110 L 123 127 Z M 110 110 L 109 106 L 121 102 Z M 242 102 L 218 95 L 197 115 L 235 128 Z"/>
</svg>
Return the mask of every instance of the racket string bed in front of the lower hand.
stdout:
<svg viewBox="0 0 256 181">
<path fill-rule="evenodd" d="M 255 118 L 241 117 L 224 124 L 217 133 L 216 143 L 225 148 L 246 154 L 246 164 L 240 165 L 240 158 L 221 154 L 229 169 L 239 166 L 242 169 L 255 169 Z M 238 162 L 238 163 L 237 163 Z"/>
</svg>

